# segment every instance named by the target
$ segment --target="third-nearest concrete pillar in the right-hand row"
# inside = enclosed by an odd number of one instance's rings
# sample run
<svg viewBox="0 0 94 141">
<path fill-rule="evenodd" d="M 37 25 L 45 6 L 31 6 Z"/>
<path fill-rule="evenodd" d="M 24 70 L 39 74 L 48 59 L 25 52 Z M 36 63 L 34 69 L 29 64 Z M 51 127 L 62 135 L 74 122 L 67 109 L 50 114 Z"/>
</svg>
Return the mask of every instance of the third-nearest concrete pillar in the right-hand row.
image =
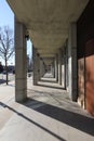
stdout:
<svg viewBox="0 0 94 141">
<path fill-rule="evenodd" d="M 62 85 L 62 50 L 58 50 L 58 84 Z"/>
</svg>

